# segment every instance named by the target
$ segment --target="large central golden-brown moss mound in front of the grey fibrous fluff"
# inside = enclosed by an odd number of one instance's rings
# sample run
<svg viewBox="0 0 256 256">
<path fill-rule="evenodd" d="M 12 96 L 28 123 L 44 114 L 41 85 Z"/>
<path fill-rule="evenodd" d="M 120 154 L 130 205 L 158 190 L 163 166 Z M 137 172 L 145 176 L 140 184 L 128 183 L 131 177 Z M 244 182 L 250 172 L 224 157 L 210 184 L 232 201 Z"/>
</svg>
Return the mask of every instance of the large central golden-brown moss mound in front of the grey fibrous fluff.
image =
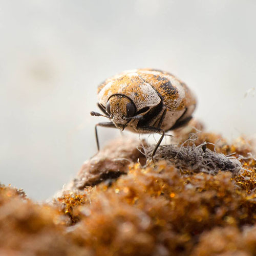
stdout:
<svg viewBox="0 0 256 256">
<path fill-rule="evenodd" d="M 110 188 L 97 186 L 90 199 L 73 236 L 97 255 L 189 255 L 203 232 L 256 220 L 256 202 L 230 173 L 181 176 L 166 162 L 156 169 L 133 165 Z"/>
</svg>

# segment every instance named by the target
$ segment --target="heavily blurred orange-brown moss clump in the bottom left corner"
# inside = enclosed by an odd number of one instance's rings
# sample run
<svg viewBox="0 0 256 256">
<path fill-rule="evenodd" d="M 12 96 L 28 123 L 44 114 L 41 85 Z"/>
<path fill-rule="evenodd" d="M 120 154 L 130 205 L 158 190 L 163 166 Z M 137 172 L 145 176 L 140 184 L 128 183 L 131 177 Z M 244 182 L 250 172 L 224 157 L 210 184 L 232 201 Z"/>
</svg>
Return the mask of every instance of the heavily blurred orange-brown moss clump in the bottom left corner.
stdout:
<svg viewBox="0 0 256 256">
<path fill-rule="evenodd" d="M 1 255 L 83 255 L 66 234 L 66 221 L 49 204 L 25 200 L 23 191 L 1 185 Z"/>
</svg>

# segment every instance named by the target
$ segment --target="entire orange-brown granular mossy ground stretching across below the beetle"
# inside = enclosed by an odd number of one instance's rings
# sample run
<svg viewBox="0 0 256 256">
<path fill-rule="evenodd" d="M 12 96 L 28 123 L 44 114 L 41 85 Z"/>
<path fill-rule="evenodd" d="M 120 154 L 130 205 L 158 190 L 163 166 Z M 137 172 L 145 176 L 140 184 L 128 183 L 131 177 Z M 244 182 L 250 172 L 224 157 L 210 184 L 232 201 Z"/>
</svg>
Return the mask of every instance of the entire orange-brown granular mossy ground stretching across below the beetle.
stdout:
<svg viewBox="0 0 256 256">
<path fill-rule="evenodd" d="M 200 124 L 194 126 L 199 129 Z M 34 203 L 23 191 L 2 185 L 0 254 L 256 254 L 253 142 L 239 138 L 228 144 L 220 135 L 189 127 L 177 132 L 176 139 L 178 145 L 195 147 L 207 142 L 203 153 L 207 148 L 226 157 L 232 154 L 240 169 L 205 172 L 199 166 L 194 171 L 168 158 L 142 167 L 129 160 L 133 163 L 124 166 L 125 174 L 113 179 L 106 173 L 102 179 L 94 165 L 93 179 L 100 177 L 97 185 L 83 188 L 72 183 L 72 190 L 62 191 L 53 204 Z M 115 159 L 102 156 L 93 164 L 100 161 L 103 166 L 107 159 L 118 173 L 119 165 L 111 162 Z M 90 162 L 86 168 L 85 176 L 79 173 L 83 184 L 92 179 Z M 104 172 L 101 168 L 100 174 Z"/>
</svg>

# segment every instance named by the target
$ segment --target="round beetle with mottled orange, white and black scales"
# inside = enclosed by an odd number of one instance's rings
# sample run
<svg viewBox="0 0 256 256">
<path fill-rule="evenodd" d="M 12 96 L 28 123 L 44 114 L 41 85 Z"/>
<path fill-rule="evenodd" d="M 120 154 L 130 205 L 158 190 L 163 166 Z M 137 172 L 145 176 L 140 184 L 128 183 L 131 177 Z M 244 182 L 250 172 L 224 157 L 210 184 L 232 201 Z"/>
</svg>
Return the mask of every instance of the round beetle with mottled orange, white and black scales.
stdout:
<svg viewBox="0 0 256 256">
<path fill-rule="evenodd" d="M 161 134 L 152 159 L 165 132 L 187 124 L 196 108 L 196 98 L 184 82 L 157 69 L 135 69 L 119 73 L 98 86 L 98 107 L 104 113 L 92 111 L 92 116 L 104 116 L 110 122 L 95 125 L 113 127 L 135 133 Z"/>
</svg>

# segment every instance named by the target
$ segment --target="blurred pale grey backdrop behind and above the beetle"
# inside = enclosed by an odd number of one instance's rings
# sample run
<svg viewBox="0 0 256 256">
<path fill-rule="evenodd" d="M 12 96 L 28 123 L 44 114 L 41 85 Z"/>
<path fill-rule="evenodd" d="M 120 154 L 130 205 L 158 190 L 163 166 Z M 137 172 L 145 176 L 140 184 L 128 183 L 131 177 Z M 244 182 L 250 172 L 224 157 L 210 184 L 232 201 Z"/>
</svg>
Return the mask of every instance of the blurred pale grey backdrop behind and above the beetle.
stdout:
<svg viewBox="0 0 256 256">
<path fill-rule="evenodd" d="M 97 85 L 125 69 L 175 74 L 209 131 L 253 136 L 255 13 L 254 0 L 0 1 L 0 181 L 36 200 L 61 189 L 96 153 Z"/>
</svg>

